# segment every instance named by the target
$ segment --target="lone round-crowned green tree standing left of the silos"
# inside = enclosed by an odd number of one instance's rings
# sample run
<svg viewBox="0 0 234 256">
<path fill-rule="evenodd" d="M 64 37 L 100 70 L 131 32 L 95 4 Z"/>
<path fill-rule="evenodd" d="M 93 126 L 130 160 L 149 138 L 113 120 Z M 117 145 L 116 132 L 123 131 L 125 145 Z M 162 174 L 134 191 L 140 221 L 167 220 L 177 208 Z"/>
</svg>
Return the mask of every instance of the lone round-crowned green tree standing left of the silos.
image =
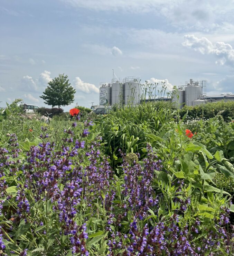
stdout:
<svg viewBox="0 0 234 256">
<path fill-rule="evenodd" d="M 67 106 L 74 102 L 76 90 L 71 86 L 67 77 L 67 75 L 59 74 L 58 77 L 48 82 L 49 85 L 43 92 L 44 95 L 40 96 L 45 104 L 52 108 L 58 106 L 60 109 L 60 106 Z"/>
</svg>

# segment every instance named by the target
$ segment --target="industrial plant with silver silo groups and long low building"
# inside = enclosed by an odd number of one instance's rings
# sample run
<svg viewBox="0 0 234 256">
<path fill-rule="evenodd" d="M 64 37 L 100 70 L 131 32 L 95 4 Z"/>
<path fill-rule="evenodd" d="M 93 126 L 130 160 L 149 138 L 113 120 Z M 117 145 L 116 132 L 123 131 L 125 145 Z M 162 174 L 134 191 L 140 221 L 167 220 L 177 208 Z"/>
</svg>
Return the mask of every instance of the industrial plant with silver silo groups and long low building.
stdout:
<svg viewBox="0 0 234 256">
<path fill-rule="evenodd" d="M 141 102 L 141 85 L 139 81 L 139 77 L 128 76 L 125 78 L 113 77 L 111 83 L 100 83 L 99 105 L 139 104 Z M 206 102 L 234 101 L 234 94 L 230 92 L 219 95 L 206 95 L 206 81 L 193 81 L 193 79 L 190 79 L 185 82 L 185 85 L 178 86 L 176 90 L 172 90 L 171 98 L 150 99 L 150 101 L 154 100 L 171 100 L 174 106 L 182 108 L 184 105 L 196 106 Z"/>
</svg>

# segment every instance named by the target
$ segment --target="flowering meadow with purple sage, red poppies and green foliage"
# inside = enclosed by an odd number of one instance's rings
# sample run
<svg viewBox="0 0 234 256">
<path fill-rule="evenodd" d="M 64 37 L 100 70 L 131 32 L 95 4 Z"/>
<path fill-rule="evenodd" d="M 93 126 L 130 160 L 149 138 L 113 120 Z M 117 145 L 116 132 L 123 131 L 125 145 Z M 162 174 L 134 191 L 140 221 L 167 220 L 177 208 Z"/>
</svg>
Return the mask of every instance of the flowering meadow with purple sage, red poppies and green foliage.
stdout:
<svg viewBox="0 0 234 256">
<path fill-rule="evenodd" d="M 233 255 L 234 122 L 209 108 L 143 102 L 46 125 L 8 105 L 0 254 Z"/>
</svg>

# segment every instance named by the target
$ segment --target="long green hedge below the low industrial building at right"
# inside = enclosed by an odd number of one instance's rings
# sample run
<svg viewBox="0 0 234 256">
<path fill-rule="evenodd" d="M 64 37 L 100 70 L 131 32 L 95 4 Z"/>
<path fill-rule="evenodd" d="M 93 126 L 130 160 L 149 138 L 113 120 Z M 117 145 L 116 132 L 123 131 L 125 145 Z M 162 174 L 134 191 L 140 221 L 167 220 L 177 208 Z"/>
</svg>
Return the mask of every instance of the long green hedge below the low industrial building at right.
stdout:
<svg viewBox="0 0 234 256">
<path fill-rule="evenodd" d="M 180 116 L 183 117 L 188 110 L 188 116 L 198 118 L 212 118 L 216 115 L 223 116 L 225 121 L 229 118 L 234 119 L 234 101 L 208 102 L 198 106 L 184 106 L 180 110 Z"/>
</svg>

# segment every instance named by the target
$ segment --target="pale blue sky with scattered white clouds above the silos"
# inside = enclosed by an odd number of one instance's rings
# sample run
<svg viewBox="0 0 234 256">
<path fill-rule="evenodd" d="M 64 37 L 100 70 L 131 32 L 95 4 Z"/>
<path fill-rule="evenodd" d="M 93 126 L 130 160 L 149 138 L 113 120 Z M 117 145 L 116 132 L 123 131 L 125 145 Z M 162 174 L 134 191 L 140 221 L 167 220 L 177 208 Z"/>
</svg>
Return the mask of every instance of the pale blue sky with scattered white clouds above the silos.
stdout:
<svg viewBox="0 0 234 256">
<path fill-rule="evenodd" d="M 232 0 L 0 0 L 0 107 L 16 98 L 48 107 L 39 96 L 64 73 L 76 89 L 64 110 L 90 108 L 112 69 L 234 93 L 233 13 Z"/>
</svg>

